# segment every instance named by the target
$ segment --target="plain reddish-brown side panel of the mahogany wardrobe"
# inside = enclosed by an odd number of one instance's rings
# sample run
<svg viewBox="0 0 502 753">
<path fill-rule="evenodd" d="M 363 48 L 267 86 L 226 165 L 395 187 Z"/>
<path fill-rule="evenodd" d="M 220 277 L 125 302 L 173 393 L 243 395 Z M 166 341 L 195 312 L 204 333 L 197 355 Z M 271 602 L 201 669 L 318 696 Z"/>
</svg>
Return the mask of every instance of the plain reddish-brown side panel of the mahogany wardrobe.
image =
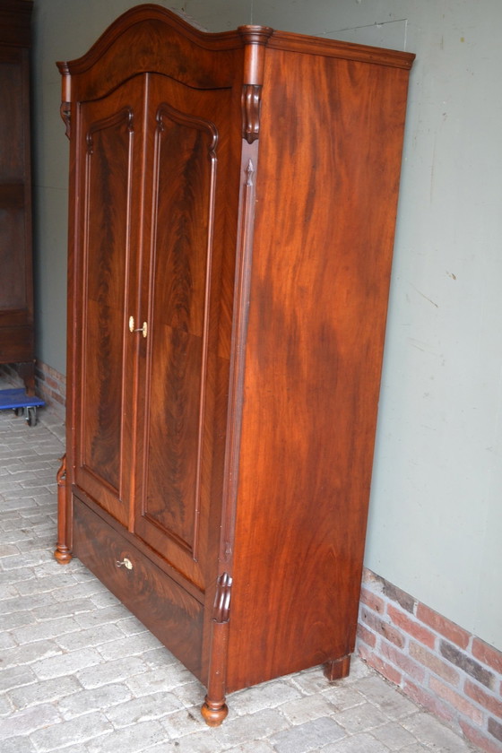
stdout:
<svg viewBox="0 0 502 753">
<path fill-rule="evenodd" d="M 353 650 L 407 78 L 267 54 L 229 690 Z"/>
</svg>

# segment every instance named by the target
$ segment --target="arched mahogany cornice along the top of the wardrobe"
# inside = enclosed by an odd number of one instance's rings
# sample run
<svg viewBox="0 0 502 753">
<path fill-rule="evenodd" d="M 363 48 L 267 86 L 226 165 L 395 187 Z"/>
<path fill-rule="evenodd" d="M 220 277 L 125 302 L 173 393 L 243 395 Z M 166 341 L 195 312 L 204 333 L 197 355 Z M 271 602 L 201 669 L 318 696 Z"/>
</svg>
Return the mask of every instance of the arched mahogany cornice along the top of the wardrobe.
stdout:
<svg viewBox="0 0 502 753">
<path fill-rule="evenodd" d="M 195 29 L 157 4 L 136 5 L 113 22 L 82 57 L 58 63 L 63 100 L 98 99 L 137 74 L 159 73 L 195 89 L 262 83 L 265 49 L 410 68 L 413 55 L 319 39 L 267 26 L 213 33 Z M 99 62 L 100 73 L 94 74 Z"/>
</svg>

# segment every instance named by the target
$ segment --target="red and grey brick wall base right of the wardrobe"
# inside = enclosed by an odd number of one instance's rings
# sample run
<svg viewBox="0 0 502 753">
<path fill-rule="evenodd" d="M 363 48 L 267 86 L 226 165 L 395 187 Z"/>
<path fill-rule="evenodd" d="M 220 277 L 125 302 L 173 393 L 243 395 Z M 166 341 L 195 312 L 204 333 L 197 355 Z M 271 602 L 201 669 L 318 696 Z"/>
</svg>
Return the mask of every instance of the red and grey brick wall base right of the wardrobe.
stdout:
<svg viewBox="0 0 502 753">
<path fill-rule="evenodd" d="M 502 653 L 370 570 L 358 651 L 368 664 L 487 753 L 502 751 Z"/>
</svg>

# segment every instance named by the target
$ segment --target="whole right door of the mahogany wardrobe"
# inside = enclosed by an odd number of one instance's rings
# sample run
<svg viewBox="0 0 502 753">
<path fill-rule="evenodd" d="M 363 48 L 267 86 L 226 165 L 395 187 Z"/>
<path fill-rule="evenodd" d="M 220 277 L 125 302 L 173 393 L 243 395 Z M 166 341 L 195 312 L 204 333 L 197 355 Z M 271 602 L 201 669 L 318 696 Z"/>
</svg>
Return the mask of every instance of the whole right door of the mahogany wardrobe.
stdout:
<svg viewBox="0 0 502 753">
<path fill-rule="evenodd" d="M 203 590 L 210 503 L 220 494 L 215 415 L 226 410 L 228 378 L 229 307 L 221 301 L 233 282 L 238 193 L 229 164 L 231 91 L 153 76 L 150 97 L 149 333 L 135 532 Z"/>
</svg>

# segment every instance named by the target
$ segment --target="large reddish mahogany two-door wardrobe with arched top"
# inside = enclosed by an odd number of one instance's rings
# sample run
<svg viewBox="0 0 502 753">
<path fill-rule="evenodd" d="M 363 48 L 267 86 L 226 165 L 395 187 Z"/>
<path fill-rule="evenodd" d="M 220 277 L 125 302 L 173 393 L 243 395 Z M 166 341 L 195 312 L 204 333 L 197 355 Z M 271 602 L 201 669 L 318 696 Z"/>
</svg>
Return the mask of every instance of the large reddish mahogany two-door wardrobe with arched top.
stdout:
<svg viewBox="0 0 502 753">
<path fill-rule="evenodd" d="M 410 54 L 155 6 L 60 63 L 56 558 L 225 696 L 349 671 Z"/>
</svg>

